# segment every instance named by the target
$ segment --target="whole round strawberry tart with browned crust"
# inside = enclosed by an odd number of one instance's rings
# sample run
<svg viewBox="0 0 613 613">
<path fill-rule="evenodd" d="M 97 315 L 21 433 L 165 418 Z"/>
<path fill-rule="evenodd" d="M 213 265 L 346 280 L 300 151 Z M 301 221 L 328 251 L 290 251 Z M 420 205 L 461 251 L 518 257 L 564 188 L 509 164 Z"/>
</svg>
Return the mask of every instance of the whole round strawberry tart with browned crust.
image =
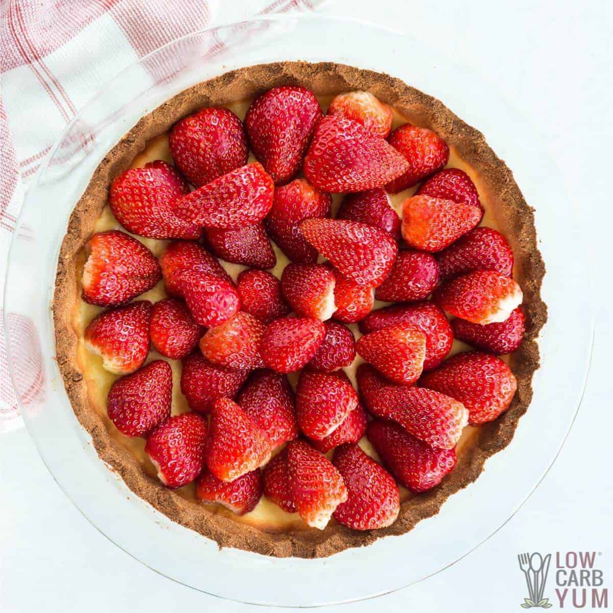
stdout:
<svg viewBox="0 0 613 613">
<path fill-rule="evenodd" d="M 323 557 L 411 530 L 511 442 L 543 275 L 511 171 L 440 101 L 340 64 L 251 66 L 97 167 L 59 254 L 58 365 L 101 460 L 158 511 Z"/>
</svg>

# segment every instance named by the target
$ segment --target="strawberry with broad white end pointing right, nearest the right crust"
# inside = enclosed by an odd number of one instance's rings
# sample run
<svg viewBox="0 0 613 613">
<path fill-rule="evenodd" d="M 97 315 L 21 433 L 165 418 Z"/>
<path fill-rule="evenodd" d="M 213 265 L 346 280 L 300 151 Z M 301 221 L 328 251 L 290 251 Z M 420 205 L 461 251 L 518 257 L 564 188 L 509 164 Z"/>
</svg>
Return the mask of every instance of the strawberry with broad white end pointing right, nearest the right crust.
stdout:
<svg viewBox="0 0 613 613">
<path fill-rule="evenodd" d="M 432 297 L 444 311 L 473 324 L 495 324 L 508 319 L 522 303 L 522 289 L 508 276 L 476 270 L 445 281 Z"/>
</svg>

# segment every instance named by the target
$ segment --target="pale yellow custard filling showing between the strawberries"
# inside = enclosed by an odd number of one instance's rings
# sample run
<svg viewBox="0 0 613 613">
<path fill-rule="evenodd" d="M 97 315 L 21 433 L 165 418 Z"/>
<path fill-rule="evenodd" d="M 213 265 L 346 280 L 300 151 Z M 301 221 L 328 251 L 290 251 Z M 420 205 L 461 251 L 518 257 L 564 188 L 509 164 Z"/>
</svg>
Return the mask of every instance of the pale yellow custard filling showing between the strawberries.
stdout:
<svg viewBox="0 0 613 613">
<path fill-rule="evenodd" d="M 319 101 L 322 106 L 322 109 L 324 109 L 324 112 L 325 112 L 325 109 L 327 109 L 330 99 L 331 99 L 330 97 L 319 97 Z M 236 103 L 227 105 L 227 108 L 237 113 L 237 115 L 240 118 L 244 118 L 246 110 L 249 107 L 249 104 L 250 104 L 250 101 L 236 102 Z M 397 128 L 397 126 L 399 126 L 400 124 L 406 123 L 406 121 L 411 121 L 411 118 L 401 116 L 399 113 L 395 112 L 393 128 Z M 411 123 L 417 123 L 417 122 L 412 121 Z M 147 144 L 147 147 L 145 147 L 145 150 L 143 150 L 142 153 L 138 154 L 134 158 L 132 167 L 133 168 L 142 167 L 142 166 L 145 166 L 147 162 L 151 162 L 156 159 L 162 159 L 166 162 L 172 163 L 172 156 L 170 156 L 167 134 L 162 134 L 154 139 L 151 139 L 151 141 Z M 249 157 L 249 162 L 251 161 L 254 161 L 253 154 Z M 482 183 L 479 178 L 479 175 L 474 171 L 474 169 L 471 166 L 466 164 L 466 162 L 464 162 L 458 156 L 457 152 L 454 151 L 453 148 L 451 148 L 451 154 L 449 156 L 449 164 L 447 164 L 447 167 L 462 169 L 466 173 L 468 173 L 468 175 L 470 175 L 471 179 L 474 181 L 479 191 L 479 197 L 481 198 L 481 203 L 485 207 L 485 215 L 482 221 L 482 225 L 490 226 L 494 228 L 497 227 L 497 224 L 495 223 L 495 219 L 493 218 L 491 207 L 489 207 L 488 205 L 489 203 L 487 201 L 486 191 L 484 188 L 482 188 Z M 400 192 L 399 194 L 390 195 L 390 203 L 398 211 L 399 215 L 401 212 L 400 208 L 402 207 L 403 200 L 405 200 L 409 196 L 412 196 L 413 193 L 416 191 L 416 189 L 417 189 L 416 187 L 409 188 L 403 192 Z M 335 213 L 338 206 L 340 205 L 340 201 L 342 197 L 343 197 L 342 194 L 335 194 L 333 196 L 333 213 Z M 96 226 L 94 228 L 94 232 L 102 232 L 103 230 L 112 230 L 112 229 L 119 229 L 119 230 L 123 230 L 124 232 L 126 231 L 120 225 L 120 223 L 118 223 L 118 221 L 113 217 L 113 214 L 111 213 L 110 208 L 107 205 L 102 211 L 102 215 L 97 220 Z M 139 236 L 135 236 L 135 238 L 137 238 L 142 243 L 147 245 L 147 247 L 151 249 L 151 251 L 153 252 L 155 256 L 160 256 L 164 252 L 164 249 L 166 249 L 166 246 L 169 244 L 169 241 L 165 241 L 165 240 L 154 240 L 152 238 L 142 238 Z M 283 268 L 288 263 L 288 260 L 283 255 L 283 253 L 281 253 L 281 250 L 278 249 L 276 245 L 273 245 L 273 248 L 275 249 L 277 261 L 276 261 L 275 267 L 270 272 L 272 272 L 273 275 L 280 278 L 281 273 L 283 272 Z M 83 266 L 84 260 L 85 260 L 85 257 L 83 256 L 81 266 Z M 245 266 L 242 266 L 242 265 L 229 264 L 227 262 L 221 262 L 221 263 L 223 267 L 227 270 L 227 272 L 230 274 L 230 276 L 234 278 L 234 280 L 236 280 L 238 274 L 242 272 L 242 270 L 245 270 L 246 268 Z M 78 271 L 79 278 L 81 276 L 81 272 L 82 270 Z M 164 297 L 166 297 L 166 292 L 164 291 L 164 283 L 163 281 L 160 281 L 160 283 L 158 283 L 153 289 L 137 297 L 137 300 L 151 300 L 151 302 L 158 302 L 158 300 L 162 300 Z M 383 307 L 383 306 L 386 306 L 386 304 L 387 303 L 376 301 L 374 308 Z M 128 449 L 132 453 L 132 455 L 134 455 L 134 457 L 143 466 L 143 470 L 145 470 L 151 476 L 156 476 L 156 473 L 157 473 L 156 467 L 153 465 L 151 460 L 148 458 L 147 454 L 145 454 L 145 440 L 142 438 L 131 438 L 129 436 L 123 435 L 121 432 L 119 432 L 115 428 L 115 425 L 113 425 L 113 422 L 110 421 L 109 417 L 107 416 L 107 409 L 106 409 L 107 394 L 109 393 L 109 388 L 111 384 L 113 383 L 113 381 L 115 381 L 115 379 L 118 376 L 113 375 L 112 373 L 104 369 L 102 365 L 101 357 L 97 356 L 94 352 L 88 351 L 85 346 L 85 341 L 83 340 L 83 330 L 85 330 L 85 327 L 87 326 L 89 321 L 91 321 L 91 319 L 93 319 L 94 316 L 100 313 L 101 310 L 102 309 L 99 307 L 88 305 L 85 302 L 80 301 L 80 305 L 75 311 L 75 316 L 74 316 L 74 328 L 76 332 L 78 333 L 78 337 L 80 338 L 79 345 L 78 345 L 78 361 L 80 362 L 80 365 L 83 369 L 85 381 L 88 386 L 89 399 L 90 399 L 91 405 L 94 407 L 94 409 L 96 409 L 96 411 L 102 417 L 102 420 L 104 421 L 107 427 L 107 430 L 110 433 L 110 436 L 112 436 L 112 438 L 115 439 L 118 443 L 126 447 L 126 449 Z M 356 335 L 356 339 L 359 338 L 361 334 L 357 328 L 357 324 L 352 324 L 349 327 L 351 328 L 354 335 Z M 465 343 L 462 343 L 460 341 L 454 341 L 454 345 L 452 347 L 450 355 L 457 353 L 459 351 L 466 351 L 468 349 L 470 349 L 470 347 L 468 345 L 465 345 Z M 167 362 L 169 362 L 170 367 L 172 367 L 172 373 L 173 373 L 172 414 L 175 415 L 175 414 L 185 413 L 186 411 L 189 411 L 189 407 L 187 405 L 186 399 L 183 396 L 183 394 L 181 394 L 181 388 L 180 388 L 181 363 L 180 363 L 180 360 L 167 359 L 166 357 L 163 357 L 160 354 L 158 354 L 158 352 L 152 350 L 147 358 L 147 362 L 150 362 L 151 360 L 156 360 L 156 359 L 165 359 L 167 360 Z M 505 359 L 505 361 L 508 362 L 508 358 L 504 357 L 503 359 Z M 356 369 L 359 366 L 359 364 L 361 364 L 363 361 L 364 360 L 362 360 L 360 357 L 356 357 L 356 360 L 354 360 L 354 362 L 348 368 L 345 369 L 347 375 L 349 376 L 349 379 L 351 379 L 354 386 L 356 386 Z M 290 379 L 291 384 L 295 386 L 295 383 L 297 381 L 297 373 L 293 373 L 292 375 L 290 375 L 289 379 Z M 462 438 L 460 438 L 460 441 L 457 444 L 457 448 L 456 448 L 457 453 L 459 455 L 461 455 L 462 452 L 465 451 L 466 447 L 471 444 L 471 441 L 473 440 L 474 434 L 476 432 L 477 432 L 477 428 L 474 428 L 471 426 L 467 426 L 466 428 L 464 428 Z M 375 459 L 378 460 L 378 456 L 375 450 L 373 449 L 373 447 L 371 446 L 371 444 L 368 442 L 368 440 L 365 437 L 362 438 L 359 444 L 360 444 L 360 447 L 362 447 L 362 449 L 364 449 L 364 451 L 367 452 L 368 455 L 371 455 L 371 457 L 374 457 Z M 329 455 L 332 455 L 332 452 L 330 452 Z M 186 485 L 185 487 L 181 487 L 180 489 L 176 491 L 178 495 L 180 496 L 189 498 L 190 500 L 195 499 L 194 484 Z M 400 491 L 401 491 L 402 501 L 408 500 L 408 498 L 413 496 L 411 492 L 409 492 L 403 487 L 400 488 Z M 221 506 L 221 504 L 210 505 L 209 508 L 215 512 L 224 514 L 225 516 L 233 517 L 238 522 L 246 522 L 248 524 L 257 526 L 261 528 L 262 530 L 266 530 L 270 532 L 277 532 L 277 531 L 281 532 L 281 531 L 286 531 L 290 529 L 294 529 L 294 530 L 295 529 L 308 529 L 307 524 L 305 524 L 305 522 L 303 522 L 303 520 L 300 519 L 297 513 L 289 514 L 283 511 L 282 509 L 280 509 L 278 506 L 276 506 L 276 504 L 273 504 L 272 502 L 270 502 L 264 497 L 262 497 L 261 501 L 259 502 L 259 504 L 257 504 L 256 508 L 253 511 L 251 511 L 248 514 L 245 514 L 242 517 L 235 516 L 232 513 L 232 511 L 224 508 L 223 506 Z"/>
</svg>

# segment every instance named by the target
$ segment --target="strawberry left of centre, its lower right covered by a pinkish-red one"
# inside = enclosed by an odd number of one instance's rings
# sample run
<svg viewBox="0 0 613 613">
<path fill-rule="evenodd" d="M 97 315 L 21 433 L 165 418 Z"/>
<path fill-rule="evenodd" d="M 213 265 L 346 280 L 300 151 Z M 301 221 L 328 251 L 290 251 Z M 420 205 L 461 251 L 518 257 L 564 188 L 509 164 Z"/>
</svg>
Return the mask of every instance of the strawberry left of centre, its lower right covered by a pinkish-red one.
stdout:
<svg viewBox="0 0 613 613">
<path fill-rule="evenodd" d="M 230 275 L 221 267 L 217 259 L 198 243 L 182 240 L 170 243 L 166 251 L 160 256 L 159 263 L 162 267 L 166 291 L 173 296 L 183 297 L 178 278 L 186 270 L 188 272 L 204 272 L 207 275 L 217 276 L 224 281 L 232 282 Z"/>
</svg>

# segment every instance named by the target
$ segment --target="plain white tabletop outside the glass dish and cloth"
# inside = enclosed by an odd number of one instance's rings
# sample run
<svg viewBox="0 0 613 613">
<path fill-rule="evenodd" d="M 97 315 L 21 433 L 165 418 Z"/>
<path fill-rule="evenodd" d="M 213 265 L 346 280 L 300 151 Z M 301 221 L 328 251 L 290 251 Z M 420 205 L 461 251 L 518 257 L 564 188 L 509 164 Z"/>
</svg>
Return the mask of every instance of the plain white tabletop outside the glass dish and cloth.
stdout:
<svg viewBox="0 0 613 613">
<path fill-rule="evenodd" d="M 329 0 L 320 12 L 405 29 L 436 45 L 455 63 L 480 72 L 484 87 L 497 88 L 538 126 L 566 175 L 568 198 L 579 199 L 584 211 L 577 223 L 584 224 L 592 249 L 596 311 L 592 369 L 579 415 L 555 465 L 522 509 L 489 541 L 442 573 L 338 611 L 519 611 L 525 584 L 516 555 L 526 550 L 602 552 L 598 565 L 613 608 L 611 2 Z M 509 138 L 522 139 L 526 148 L 535 146 L 531 134 Z M 500 147 L 497 153 L 504 158 Z M 521 186 L 521 177 L 517 179 Z M 564 215 L 565 203 L 559 204 Z M 568 245 L 568 257 L 579 248 Z M 563 267 L 564 262 L 547 264 Z M 555 419 L 555 408 L 550 410 Z M 56 486 L 25 430 L 0 437 L 0 492 L 3 613 L 251 610 L 158 576 L 107 541 Z M 297 588 L 317 590 L 302 581 Z"/>
</svg>

